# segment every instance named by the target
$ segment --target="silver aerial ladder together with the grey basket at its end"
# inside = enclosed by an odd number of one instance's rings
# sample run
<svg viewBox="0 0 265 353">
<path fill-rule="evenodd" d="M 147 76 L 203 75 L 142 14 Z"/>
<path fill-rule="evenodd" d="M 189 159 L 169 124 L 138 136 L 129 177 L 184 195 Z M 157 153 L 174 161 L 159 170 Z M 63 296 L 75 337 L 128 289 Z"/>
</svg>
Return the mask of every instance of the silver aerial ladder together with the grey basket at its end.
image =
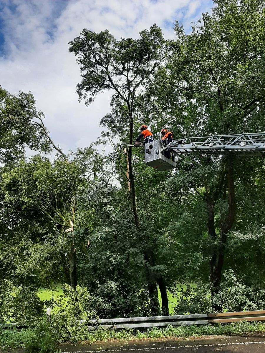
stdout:
<svg viewBox="0 0 265 353">
<path fill-rule="evenodd" d="M 145 163 L 159 171 L 176 168 L 178 154 L 216 154 L 216 155 L 265 155 L 265 132 L 235 135 L 216 135 L 188 137 L 173 140 L 166 145 L 158 132 L 148 137 L 142 145 L 145 149 Z M 170 157 L 170 158 L 169 158 Z"/>
</svg>

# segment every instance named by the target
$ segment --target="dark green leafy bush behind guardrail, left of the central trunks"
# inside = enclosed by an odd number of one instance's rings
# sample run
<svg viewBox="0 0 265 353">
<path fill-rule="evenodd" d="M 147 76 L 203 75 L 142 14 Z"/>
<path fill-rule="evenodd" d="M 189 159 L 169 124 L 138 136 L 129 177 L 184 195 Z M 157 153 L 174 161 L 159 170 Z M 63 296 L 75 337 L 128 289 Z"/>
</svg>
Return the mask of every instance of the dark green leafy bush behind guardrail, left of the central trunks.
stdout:
<svg viewBox="0 0 265 353">
<path fill-rule="evenodd" d="M 82 277 L 94 296 L 95 310 L 105 318 L 139 316 L 148 310 L 146 267 L 139 241 L 143 233 L 135 228 L 123 197 L 123 191 L 102 184 L 83 190 L 78 197 L 81 209 L 94 209 L 91 247 L 83 260 Z M 87 227 L 82 229 L 82 233 L 88 232 Z"/>
</svg>

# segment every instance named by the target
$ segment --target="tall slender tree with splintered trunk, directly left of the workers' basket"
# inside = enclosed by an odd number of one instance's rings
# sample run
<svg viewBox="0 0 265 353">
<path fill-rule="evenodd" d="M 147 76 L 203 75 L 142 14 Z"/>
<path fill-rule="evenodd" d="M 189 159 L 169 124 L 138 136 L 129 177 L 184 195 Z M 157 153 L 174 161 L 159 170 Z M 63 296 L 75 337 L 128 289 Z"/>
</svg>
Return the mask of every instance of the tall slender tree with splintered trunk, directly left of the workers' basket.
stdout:
<svg viewBox="0 0 265 353">
<path fill-rule="evenodd" d="M 137 40 L 126 38 L 116 41 L 108 30 L 96 34 L 84 29 L 80 37 L 70 42 L 69 49 L 77 56 L 77 62 L 81 65 L 82 82 L 77 85 L 80 100 L 84 98 L 86 104 L 90 104 L 99 92 L 114 91 L 111 105 L 119 107 L 122 114 L 119 114 L 118 119 L 113 114 L 108 114 L 102 123 L 112 131 L 114 128 L 122 130 L 122 133 L 129 130 L 128 142 L 132 144 L 136 98 L 152 82 L 155 72 L 165 59 L 177 50 L 176 43 L 164 40 L 160 28 L 155 24 L 150 30 L 140 32 Z M 119 132 L 118 136 L 120 135 Z M 140 221 L 132 162 L 132 149 L 129 147 L 129 193 L 135 226 L 138 227 Z M 153 267 L 152 253 L 148 255 L 145 252 L 145 259 L 148 266 Z M 157 283 L 155 278 L 151 280 L 151 275 L 148 286 L 152 312 L 157 315 Z"/>
</svg>

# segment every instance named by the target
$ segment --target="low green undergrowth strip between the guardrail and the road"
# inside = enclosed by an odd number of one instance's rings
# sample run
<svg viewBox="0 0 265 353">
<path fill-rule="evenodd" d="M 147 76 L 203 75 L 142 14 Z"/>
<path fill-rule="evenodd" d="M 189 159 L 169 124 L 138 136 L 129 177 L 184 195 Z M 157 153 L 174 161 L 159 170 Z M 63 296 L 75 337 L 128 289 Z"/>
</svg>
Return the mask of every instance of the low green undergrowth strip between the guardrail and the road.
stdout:
<svg viewBox="0 0 265 353">
<path fill-rule="evenodd" d="M 265 324 L 260 322 L 240 321 L 225 325 L 184 325 L 171 326 L 165 328 L 154 327 L 145 331 L 124 329 L 124 330 L 96 330 L 88 331 L 86 325 L 78 326 L 78 335 L 67 337 L 67 340 L 60 339 L 52 330 L 52 326 L 44 321 L 28 329 L 1 330 L 0 347 L 1 348 L 25 348 L 28 352 L 39 351 L 56 352 L 57 343 L 63 342 L 96 342 L 107 341 L 109 339 L 126 340 L 131 339 L 157 339 L 162 337 L 194 337 L 208 335 L 238 335 L 243 333 L 264 332 Z M 76 331 L 77 332 L 77 331 Z"/>
</svg>

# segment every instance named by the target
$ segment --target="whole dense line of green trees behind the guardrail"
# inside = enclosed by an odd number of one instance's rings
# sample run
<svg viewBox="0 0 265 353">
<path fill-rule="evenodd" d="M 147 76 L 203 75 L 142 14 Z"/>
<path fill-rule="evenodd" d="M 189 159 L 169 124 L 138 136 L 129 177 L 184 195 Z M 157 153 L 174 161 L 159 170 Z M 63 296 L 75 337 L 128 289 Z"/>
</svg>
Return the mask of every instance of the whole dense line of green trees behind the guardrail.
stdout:
<svg viewBox="0 0 265 353">
<path fill-rule="evenodd" d="M 80 100 L 113 91 L 108 156 L 65 155 L 34 97 L 1 89 L 0 321 L 11 307 L 14 319 L 41 312 L 38 288 L 56 283 L 87 288 L 100 317 L 168 315 L 168 292 L 176 313 L 264 309 L 264 159 L 178 156 L 157 172 L 142 150 L 124 154 L 142 123 L 175 138 L 265 131 L 265 4 L 215 3 L 172 41 L 153 25 L 137 40 L 84 29 L 69 43 Z"/>
</svg>

